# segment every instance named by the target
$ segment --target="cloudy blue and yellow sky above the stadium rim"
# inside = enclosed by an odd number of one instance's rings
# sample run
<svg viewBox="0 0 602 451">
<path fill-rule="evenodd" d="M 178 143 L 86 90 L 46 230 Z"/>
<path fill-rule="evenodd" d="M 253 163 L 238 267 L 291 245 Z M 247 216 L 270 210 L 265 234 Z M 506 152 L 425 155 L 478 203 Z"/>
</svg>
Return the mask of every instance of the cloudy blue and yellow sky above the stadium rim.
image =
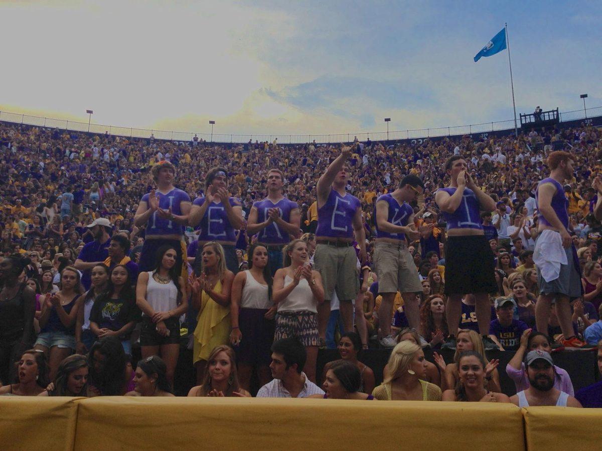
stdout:
<svg viewBox="0 0 602 451">
<path fill-rule="evenodd" d="M 0 111 L 155 130 L 360 133 L 602 106 L 600 1 L 0 0 Z"/>
</svg>

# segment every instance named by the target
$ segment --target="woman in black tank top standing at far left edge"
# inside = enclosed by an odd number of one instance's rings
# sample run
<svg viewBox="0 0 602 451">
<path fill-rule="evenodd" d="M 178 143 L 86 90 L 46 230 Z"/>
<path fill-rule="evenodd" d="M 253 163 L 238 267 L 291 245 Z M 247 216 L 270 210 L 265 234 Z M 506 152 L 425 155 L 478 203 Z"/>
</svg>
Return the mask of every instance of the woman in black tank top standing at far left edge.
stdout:
<svg viewBox="0 0 602 451">
<path fill-rule="evenodd" d="M 29 259 L 13 255 L 0 262 L 0 381 L 14 380 L 14 363 L 33 340 L 36 293 L 17 277 Z"/>
</svg>

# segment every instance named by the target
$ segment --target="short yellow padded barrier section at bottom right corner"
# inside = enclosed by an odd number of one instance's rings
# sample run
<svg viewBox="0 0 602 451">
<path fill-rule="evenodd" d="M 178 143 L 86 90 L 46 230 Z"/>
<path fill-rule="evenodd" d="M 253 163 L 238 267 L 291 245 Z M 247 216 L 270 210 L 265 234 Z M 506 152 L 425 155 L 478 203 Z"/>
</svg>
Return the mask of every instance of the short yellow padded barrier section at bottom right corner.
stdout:
<svg viewBox="0 0 602 451">
<path fill-rule="evenodd" d="M 525 438 L 532 450 L 594 450 L 602 447 L 602 409 L 526 407 Z"/>
</svg>

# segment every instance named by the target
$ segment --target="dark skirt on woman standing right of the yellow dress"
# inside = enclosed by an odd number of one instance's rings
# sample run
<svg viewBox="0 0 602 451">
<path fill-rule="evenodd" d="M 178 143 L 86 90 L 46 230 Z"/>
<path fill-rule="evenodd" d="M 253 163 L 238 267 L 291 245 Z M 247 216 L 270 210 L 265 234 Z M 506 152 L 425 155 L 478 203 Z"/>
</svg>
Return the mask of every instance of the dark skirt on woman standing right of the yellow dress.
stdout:
<svg viewBox="0 0 602 451">
<path fill-rule="evenodd" d="M 241 308 L 238 325 L 243 338 L 236 349 L 238 363 L 247 365 L 269 365 L 272 361 L 272 342 L 276 330 L 275 319 L 265 319 L 267 310 Z"/>
</svg>

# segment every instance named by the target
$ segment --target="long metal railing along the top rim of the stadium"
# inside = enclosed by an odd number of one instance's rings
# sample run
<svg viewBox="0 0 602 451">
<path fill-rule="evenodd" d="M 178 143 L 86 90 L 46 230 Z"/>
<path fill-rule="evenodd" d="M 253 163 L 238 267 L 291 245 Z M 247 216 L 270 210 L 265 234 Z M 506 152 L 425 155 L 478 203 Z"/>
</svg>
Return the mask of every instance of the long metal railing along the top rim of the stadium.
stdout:
<svg viewBox="0 0 602 451">
<path fill-rule="evenodd" d="M 588 109 L 577 109 L 575 111 L 560 112 L 560 122 L 586 119 L 596 116 L 602 116 L 602 106 Z M 211 140 L 211 133 L 194 132 L 169 132 L 154 129 L 137 129 L 134 127 L 122 127 L 114 125 L 88 124 L 87 122 L 68 121 L 48 117 L 32 116 L 28 114 L 19 114 L 7 111 L 0 111 L 0 121 L 26 124 L 39 127 L 51 127 L 61 130 L 72 130 L 84 133 L 109 133 L 130 138 L 150 138 L 151 135 L 157 140 L 168 141 L 192 141 L 194 135 L 199 140 Z M 336 133 L 329 135 L 279 135 L 279 134 L 237 134 L 237 133 L 213 133 L 214 143 L 247 143 L 249 140 L 269 141 L 272 143 L 275 139 L 281 144 L 305 144 L 316 141 L 320 144 L 325 143 L 350 143 L 355 137 L 360 141 L 367 141 L 368 138 L 373 141 L 385 140 L 413 140 L 420 138 L 435 138 L 457 135 L 471 135 L 473 133 L 488 133 L 499 130 L 514 129 L 514 120 L 483 122 L 480 124 L 435 127 L 417 130 L 393 130 L 390 132 L 364 132 L 364 133 Z"/>
</svg>

